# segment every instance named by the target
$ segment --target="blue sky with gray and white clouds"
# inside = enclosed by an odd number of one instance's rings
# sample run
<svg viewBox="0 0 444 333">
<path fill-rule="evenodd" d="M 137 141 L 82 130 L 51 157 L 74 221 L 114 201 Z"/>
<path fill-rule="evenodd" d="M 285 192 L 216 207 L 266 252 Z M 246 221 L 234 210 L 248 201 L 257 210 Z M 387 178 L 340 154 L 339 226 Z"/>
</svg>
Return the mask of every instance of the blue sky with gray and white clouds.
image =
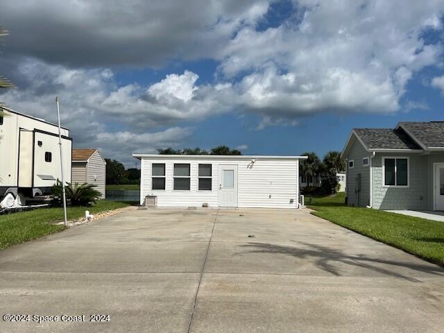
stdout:
<svg viewBox="0 0 444 333">
<path fill-rule="evenodd" d="M 354 127 L 444 120 L 444 0 L 3 0 L 10 108 L 74 146 L 341 150 Z"/>
</svg>

